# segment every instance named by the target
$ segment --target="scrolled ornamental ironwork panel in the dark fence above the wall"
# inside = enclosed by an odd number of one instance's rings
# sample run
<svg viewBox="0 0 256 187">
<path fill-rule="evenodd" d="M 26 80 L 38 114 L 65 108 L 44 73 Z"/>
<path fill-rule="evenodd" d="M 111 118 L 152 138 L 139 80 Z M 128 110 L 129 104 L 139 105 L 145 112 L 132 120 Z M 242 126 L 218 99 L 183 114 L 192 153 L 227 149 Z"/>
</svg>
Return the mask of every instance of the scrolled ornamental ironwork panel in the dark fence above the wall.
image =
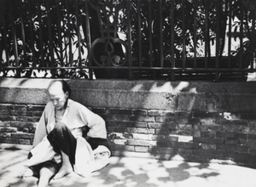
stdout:
<svg viewBox="0 0 256 187">
<path fill-rule="evenodd" d="M 91 8 L 96 10 L 101 37 L 91 44 L 91 59 L 100 66 L 121 66 L 127 61 L 127 45 L 119 38 L 119 14 L 124 9 L 124 0 L 93 1 L 89 0 Z"/>
</svg>

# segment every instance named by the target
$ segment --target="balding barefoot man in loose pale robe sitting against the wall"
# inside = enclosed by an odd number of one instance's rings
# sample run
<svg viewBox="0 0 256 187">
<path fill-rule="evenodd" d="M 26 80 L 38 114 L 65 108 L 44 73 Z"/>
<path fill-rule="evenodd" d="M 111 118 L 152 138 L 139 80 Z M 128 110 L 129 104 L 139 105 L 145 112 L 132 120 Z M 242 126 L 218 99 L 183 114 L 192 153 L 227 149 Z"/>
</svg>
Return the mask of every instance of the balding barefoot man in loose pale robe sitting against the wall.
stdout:
<svg viewBox="0 0 256 187">
<path fill-rule="evenodd" d="M 24 173 L 38 177 L 38 186 L 72 172 L 86 176 L 106 166 L 110 156 L 102 117 L 69 99 L 65 81 L 50 82 L 48 92 L 50 102 L 38 122 Z"/>
</svg>

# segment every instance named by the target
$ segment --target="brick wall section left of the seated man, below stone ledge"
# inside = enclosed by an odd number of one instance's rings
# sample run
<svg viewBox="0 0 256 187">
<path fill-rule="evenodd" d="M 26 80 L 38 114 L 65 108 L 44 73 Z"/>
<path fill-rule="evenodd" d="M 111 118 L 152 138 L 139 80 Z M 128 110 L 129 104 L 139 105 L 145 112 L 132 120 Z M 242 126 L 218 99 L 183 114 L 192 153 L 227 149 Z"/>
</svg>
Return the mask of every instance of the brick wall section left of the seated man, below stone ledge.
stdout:
<svg viewBox="0 0 256 187">
<path fill-rule="evenodd" d="M 0 104 L 0 143 L 32 144 L 44 105 Z"/>
</svg>

